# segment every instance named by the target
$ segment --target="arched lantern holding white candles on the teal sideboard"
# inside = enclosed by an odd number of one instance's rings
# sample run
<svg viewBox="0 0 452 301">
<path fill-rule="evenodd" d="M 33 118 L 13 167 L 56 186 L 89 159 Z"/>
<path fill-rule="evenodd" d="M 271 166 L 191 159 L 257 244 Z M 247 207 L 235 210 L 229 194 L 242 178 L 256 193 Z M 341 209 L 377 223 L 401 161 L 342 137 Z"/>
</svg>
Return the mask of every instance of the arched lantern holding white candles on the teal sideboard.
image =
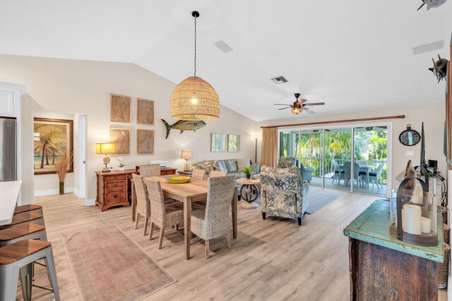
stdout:
<svg viewBox="0 0 452 301">
<path fill-rule="evenodd" d="M 417 192 L 415 182 L 420 183 L 422 192 Z M 438 245 L 436 234 L 436 198 L 429 192 L 428 176 L 405 178 L 397 190 L 397 213 L 391 214 L 389 233 L 393 238 L 413 245 Z M 410 184 L 410 185 L 407 185 Z M 407 189 L 409 187 L 410 189 Z"/>
</svg>

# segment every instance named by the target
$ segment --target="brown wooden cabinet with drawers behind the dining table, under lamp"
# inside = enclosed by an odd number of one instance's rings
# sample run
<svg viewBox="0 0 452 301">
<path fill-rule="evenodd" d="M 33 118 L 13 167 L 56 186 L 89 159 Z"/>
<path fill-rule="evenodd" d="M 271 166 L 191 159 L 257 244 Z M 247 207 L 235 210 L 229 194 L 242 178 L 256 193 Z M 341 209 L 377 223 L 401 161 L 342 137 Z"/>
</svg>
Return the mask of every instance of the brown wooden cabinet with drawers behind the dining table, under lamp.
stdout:
<svg viewBox="0 0 452 301">
<path fill-rule="evenodd" d="M 160 175 L 174 175 L 176 171 L 176 168 L 165 167 L 160 169 Z M 139 168 L 138 170 L 126 169 L 125 171 L 109 171 L 107 173 L 96 171 L 96 204 L 100 207 L 100 210 L 105 211 L 110 207 L 129 206 L 132 191 L 132 173 L 139 174 Z"/>
</svg>

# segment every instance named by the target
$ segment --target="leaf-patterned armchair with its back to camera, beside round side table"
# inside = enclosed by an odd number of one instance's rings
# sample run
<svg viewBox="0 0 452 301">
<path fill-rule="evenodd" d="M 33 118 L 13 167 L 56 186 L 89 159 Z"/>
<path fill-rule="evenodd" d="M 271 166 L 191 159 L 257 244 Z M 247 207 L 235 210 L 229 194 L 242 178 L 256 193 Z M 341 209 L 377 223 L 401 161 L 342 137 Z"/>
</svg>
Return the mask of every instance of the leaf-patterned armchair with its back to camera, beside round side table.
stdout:
<svg viewBox="0 0 452 301">
<path fill-rule="evenodd" d="M 261 167 L 261 211 L 266 216 L 298 219 L 302 226 L 310 183 L 302 183 L 299 167 Z"/>
</svg>

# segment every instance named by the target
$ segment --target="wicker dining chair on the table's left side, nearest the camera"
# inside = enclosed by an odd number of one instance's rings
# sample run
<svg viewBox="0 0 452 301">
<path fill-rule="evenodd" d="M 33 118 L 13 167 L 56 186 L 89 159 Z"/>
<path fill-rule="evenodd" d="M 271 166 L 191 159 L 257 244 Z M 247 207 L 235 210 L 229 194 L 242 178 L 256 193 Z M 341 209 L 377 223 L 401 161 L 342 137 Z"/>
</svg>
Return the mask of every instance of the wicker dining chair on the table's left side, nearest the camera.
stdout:
<svg viewBox="0 0 452 301">
<path fill-rule="evenodd" d="M 148 188 L 150 199 L 150 231 L 149 240 L 153 239 L 154 225 L 160 228 L 160 237 L 158 239 L 158 249 L 162 248 L 163 235 L 165 228 L 176 226 L 184 222 L 184 203 L 165 202 L 162 192 L 162 186 L 159 181 L 145 178 L 144 183 Z"/>
</svg>

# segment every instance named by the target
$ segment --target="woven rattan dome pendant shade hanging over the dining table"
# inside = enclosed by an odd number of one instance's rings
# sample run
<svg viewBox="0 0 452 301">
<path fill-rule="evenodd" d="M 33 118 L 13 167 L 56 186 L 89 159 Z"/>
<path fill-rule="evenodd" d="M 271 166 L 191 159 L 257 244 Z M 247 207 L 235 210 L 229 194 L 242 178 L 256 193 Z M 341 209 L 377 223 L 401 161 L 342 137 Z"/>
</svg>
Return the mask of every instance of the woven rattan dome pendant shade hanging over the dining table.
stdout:
<svg viewBox="0 0 452 301">
<path fill-rule="evenodd" d="M 220 99 L 208 82 L 191 76 L 174 88 L 169 109 L 174 119 L 211 121 L 220 117 Z"/>
</svg>

